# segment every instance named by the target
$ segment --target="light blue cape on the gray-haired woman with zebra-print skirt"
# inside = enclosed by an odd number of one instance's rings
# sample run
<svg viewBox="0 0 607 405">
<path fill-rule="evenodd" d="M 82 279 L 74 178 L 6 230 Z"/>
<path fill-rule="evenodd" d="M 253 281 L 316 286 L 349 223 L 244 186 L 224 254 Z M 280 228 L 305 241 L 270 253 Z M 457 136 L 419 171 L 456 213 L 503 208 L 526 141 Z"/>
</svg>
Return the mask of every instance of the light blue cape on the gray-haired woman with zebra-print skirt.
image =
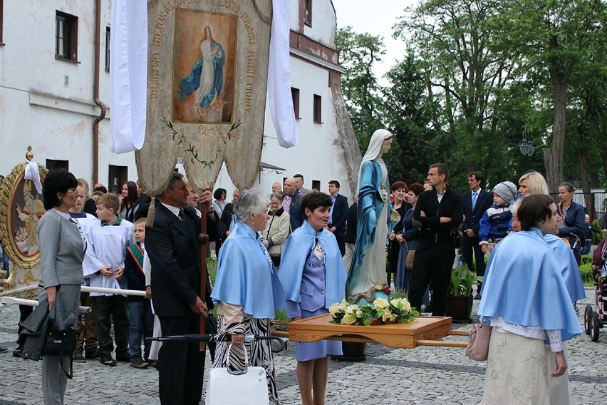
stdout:
<svg viewBox="0 0 607 405">
<path fill-rule="evenodd" d="M 284 309 L 280 280 L 266 252 L 257 232 L 237 222 L 219 250 L 213 301 L 241 305 L 254 318 L 274 318 L 275 309 Z"/>
</svg>

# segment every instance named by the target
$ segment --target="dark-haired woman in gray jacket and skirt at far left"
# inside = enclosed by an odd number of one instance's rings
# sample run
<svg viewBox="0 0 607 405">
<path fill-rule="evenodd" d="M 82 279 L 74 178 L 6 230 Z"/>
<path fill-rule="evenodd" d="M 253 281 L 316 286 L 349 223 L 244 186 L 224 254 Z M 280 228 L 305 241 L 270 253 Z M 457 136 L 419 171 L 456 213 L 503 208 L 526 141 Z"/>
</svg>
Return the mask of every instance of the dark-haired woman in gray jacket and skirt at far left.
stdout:
<svg viewBox="0 0 607 405">
<path fill-rule="evenodd" d="M 77 185 L 78 181 L 72 173 L 57 169 L 46 175 L 42 190 L 46 213 L 38 222 L 38 302 L 48 301 L 49 319 L 56 329 L 59 329 L 60 324 L 76 327 L 80 287 L 84 281 L 82 261 L 86 243 L 78 224 L 68 213 L 76 205 Z M 63 404 L 68 384 L 63 369 L 68 370 L 69 366 L 67 357 L 43 358 L 44 404 Z"/>
</svg>

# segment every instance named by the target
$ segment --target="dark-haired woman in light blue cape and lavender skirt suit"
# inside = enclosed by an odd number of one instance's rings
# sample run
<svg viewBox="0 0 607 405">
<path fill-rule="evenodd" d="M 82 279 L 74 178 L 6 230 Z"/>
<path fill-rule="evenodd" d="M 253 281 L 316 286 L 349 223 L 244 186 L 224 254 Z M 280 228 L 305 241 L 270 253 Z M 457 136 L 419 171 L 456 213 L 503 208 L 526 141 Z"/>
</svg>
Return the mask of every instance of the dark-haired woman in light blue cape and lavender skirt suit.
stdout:
<svg viewBox="0 0 607 405">
<path fill-rule="evenodd" d="M 279 271 L 286 315 L 294 321 L 327 314 L 331 304 L 343 300 L 346 286 L 341 252 L 326 229 L 331 197 L 309 193 L 301 200 L 301 212 L 306 220 L 286 240 Z M 341 355 L 341 342 L 295 343 L 295 354 L 302 402 L 324 404 L 328 356 Z"/>
</svg>

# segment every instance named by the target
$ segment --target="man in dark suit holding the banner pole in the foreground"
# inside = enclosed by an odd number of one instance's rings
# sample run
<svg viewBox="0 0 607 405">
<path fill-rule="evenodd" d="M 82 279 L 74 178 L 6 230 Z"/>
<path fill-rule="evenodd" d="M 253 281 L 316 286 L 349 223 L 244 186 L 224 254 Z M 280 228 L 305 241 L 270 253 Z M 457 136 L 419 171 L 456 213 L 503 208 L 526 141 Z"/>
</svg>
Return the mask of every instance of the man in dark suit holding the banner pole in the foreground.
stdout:
<svg viewBox="0 0 607 405">
<path fill-rule="evenodd" d="M 200 220 L 187 205 L 189 194 L 183 175 L 173 173 L 155 201 L 154 226 L 145 231 L 145 252 L 152 265 L 152 302 L 165 336 L 199 333 L 200 314 L 205 315 L 207 305 L 212 305 L 208 275 L 206 294 L 200 292 Z M 214 220 L 208 188 L 199 201 L 207 218 Z M 162 344 L 158 359 L 161 404 L 199 404 L 204 357 L 197 342 Z"/>
</svg>

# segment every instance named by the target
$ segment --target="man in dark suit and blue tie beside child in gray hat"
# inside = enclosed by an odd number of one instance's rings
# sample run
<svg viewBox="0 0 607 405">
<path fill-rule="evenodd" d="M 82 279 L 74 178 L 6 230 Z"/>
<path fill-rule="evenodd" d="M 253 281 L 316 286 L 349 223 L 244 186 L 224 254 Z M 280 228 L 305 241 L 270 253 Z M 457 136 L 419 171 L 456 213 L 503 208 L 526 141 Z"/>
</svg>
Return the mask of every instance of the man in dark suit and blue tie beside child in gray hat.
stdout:
<svg viewBox="0 0 607 405">
<path fill-rule="evenodd" d="M 484 253 L 479 246 L 479 221 L 482 215 L 493 204 L 493 195 L 482 189 L 483 176 L 481 173 L 472 172 L 468 175 L 468 186 L 470 191 L 462 194 L 462 202 L 464 204 L 464 222 L 462 222 L 462 232 L 464 232 L 464 240 L 462 240 L 462 252 L 464 253 L 464 261 L 468 265 L 468 269 L 474 272 L 472 263 L 472 252 L 476 259 L 476 272 L 478 276 L 484 276 Z M 480 291 L 480 284 L 477 291 Z M 480 299 L 480 294 L 476 294 L 474 299 Z"/>
</svg>

